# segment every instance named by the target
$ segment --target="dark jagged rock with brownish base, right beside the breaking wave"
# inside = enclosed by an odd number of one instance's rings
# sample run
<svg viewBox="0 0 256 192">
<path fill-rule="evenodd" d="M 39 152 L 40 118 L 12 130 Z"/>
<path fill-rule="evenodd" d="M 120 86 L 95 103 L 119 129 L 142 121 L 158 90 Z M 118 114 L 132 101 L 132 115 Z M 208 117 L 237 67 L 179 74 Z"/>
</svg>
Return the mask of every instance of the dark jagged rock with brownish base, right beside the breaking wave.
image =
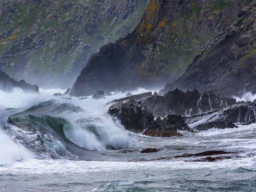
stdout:
<svg viewBox="0 0 256 192">
<path fill-rule="evenodd" d="M 178 130 L 190 131 L 181 115 L 168 115 L 162 119 L 158 117 L 154 120 L 152 113 L 140 101 L 129 100 L 113 104 L 109 110 L 114 121 L 120 123 L 129 131 L 142 132 L 153 137 L 183 136 Z"/>
</svg>

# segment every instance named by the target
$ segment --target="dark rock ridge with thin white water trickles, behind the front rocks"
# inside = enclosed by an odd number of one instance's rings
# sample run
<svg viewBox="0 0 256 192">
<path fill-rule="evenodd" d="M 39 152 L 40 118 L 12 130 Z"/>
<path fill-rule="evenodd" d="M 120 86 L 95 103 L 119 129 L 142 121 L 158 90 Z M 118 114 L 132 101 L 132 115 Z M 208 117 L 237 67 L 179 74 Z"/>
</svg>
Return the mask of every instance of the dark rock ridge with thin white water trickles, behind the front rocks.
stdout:
<svg viewBox="0 0 256 192">
<path fill-rule="evenodd" d="M 148 110 L 165 117 L 168 114 L 194 115 L 215 109 L 223 109 L 236 103 L 236 99 L 220 98 L 213 92 L 199 93 L 198 90 L 182 92 L 179 89 L 170 91 L 164 96 L 147 97 L 143 102 Z"/>
</svg>

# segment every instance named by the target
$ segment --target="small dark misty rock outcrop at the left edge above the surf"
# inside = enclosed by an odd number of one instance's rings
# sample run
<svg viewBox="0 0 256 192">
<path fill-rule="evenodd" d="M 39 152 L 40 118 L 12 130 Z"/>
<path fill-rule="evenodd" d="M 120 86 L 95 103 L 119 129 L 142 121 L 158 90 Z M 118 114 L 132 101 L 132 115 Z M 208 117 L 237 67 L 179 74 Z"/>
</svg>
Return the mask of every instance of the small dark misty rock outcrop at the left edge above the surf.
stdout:
<svg viewBox="0 0 256 192">
<path fill-rule="evenodd" d="M 10 78 L 9 75 L 0 71 L 0 90 L 5 92 L 10 92 L 13 88 L 21 88 L 26 92 L 39 92 L 39 89 L 36 85 L 31 85 L 26 83 L 25 80 L 15 81 L 13 78 Z"/>
</svg>

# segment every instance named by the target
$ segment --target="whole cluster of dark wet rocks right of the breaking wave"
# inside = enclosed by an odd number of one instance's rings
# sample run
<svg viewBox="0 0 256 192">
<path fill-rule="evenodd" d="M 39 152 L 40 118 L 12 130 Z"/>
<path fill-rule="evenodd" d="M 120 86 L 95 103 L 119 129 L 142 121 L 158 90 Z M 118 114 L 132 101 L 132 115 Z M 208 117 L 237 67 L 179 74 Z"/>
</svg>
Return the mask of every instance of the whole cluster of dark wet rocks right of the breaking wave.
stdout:
<svg viewBox="0 0 256 192">
<path fill-rule="evenodd" d="M 236 102 L 198 90 L 178 89 L 164 96 L 147 96 L 112 104 L 108 114 L 127 130 L 153 137 L 183 136 L 183 131 L 237 128 L 256 123 L 256 100 Z"/>
</svg>

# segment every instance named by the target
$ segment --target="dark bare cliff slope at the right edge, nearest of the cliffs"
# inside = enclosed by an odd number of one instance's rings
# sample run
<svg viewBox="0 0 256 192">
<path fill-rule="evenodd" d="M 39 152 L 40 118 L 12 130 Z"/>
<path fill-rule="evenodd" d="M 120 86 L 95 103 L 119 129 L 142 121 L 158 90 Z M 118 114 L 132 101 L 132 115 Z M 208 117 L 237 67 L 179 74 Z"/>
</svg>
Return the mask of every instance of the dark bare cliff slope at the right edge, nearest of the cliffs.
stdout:
<svg viewBox="0 0 256 192">
<path fill-rule="evenodd" d="M 196 56 L 186 72 L 161 93 L 176 87 L 213 90 L 221 96 L 256 90 L 256 0 L 245 6 L 233 24 Z"/>
</svg>

